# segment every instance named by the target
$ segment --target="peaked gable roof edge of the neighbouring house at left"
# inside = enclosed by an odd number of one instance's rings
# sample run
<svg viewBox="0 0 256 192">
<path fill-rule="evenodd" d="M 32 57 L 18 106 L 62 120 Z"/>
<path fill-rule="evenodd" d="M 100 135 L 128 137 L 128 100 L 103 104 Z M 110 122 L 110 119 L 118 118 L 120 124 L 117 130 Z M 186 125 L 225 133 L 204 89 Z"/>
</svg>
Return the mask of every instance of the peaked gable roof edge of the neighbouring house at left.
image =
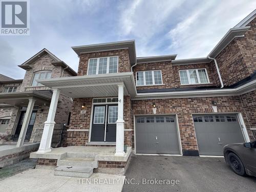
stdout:
<svg viewBox="0 0 256 192">
<path fill-rule="evenodd" d="M 53 66 L 61 66 L 63 68 L 67 68 L 67 71 L 69 71 L 73 76 L 77 75 L 77 73 L 71 67 L 69 67 L 64 61 L 60 60 L 58 57 L 56 57 L 54 54 L 52 54 L 46 48 L 42 49 L 41 51 L 36 53 L 34 56 L 32 56 L 31 58 L 26 60 L 24 63 L 22 63 L 22 65 L 18 65 L 18 67 L 25 69 L 25 70 L 32 69 L 30 65 L 33 62 L 35 62 L 37 59 L 39 59 L 40 57 L 42 57 L 46 54 L 49 54 L 55 60 L 54 62 L 51 62 Z"/>
</svg>

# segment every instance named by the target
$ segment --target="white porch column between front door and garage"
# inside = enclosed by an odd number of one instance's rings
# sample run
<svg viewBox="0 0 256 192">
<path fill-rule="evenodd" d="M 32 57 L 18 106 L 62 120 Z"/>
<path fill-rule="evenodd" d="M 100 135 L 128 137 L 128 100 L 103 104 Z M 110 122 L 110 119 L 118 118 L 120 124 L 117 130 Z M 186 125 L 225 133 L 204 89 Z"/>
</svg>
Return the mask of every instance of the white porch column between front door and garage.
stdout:
<svg viewBox="0 0 256 192">
<path fill-rule="evenodd" d="M 123 87 L 124 84 L 118 84 L 118 118 L 116 121 L 116 153 L 115 156 L 123 156 L 124 143 L 124 120 L 123 120 Z"/>
</svg>

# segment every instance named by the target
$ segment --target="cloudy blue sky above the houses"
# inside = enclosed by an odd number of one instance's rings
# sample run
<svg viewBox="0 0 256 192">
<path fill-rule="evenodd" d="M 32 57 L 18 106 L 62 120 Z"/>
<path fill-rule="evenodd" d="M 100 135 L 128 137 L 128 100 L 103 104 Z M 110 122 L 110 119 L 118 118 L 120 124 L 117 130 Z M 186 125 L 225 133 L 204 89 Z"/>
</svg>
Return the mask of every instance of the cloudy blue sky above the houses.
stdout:
<svg viewBox="0 0 256 192">
<path fill-rule="evenodd" d="M 77 71 L 71 46 L 129 39 L 137 56 L 205 57 L 254 8 L 253 0 L 30 1 L 30 35 L 0 36 L 0 73 L 23 78 L 17 65 L 42 48 Z"/>
</svg>

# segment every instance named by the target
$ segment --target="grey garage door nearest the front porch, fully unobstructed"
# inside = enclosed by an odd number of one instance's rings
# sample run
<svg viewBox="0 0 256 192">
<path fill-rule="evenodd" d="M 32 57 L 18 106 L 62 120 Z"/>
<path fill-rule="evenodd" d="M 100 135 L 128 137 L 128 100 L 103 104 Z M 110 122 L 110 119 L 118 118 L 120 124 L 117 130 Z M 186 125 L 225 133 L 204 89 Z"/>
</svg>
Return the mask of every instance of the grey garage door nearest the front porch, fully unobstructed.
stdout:
<svg viewBox="0 0 256 192">
<path fill-rule="evenodd" d="M 138 116 L 136 153 L 180 154 L 175 116 Z"/>
</svg>

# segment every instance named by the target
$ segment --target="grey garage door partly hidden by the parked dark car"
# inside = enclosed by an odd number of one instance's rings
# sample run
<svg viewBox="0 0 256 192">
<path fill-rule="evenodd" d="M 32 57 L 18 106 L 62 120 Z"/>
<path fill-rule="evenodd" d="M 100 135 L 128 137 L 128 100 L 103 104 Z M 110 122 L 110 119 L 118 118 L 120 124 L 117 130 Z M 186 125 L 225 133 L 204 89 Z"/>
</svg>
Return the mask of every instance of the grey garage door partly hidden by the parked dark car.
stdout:
<svg viewBox="0 0 256 192">
<path fill-rule="evenodd" d="M 223 155 L 226 144 L 244 142 L 236 114 L 193 116 L 200 155 Z"/>
</svg>

